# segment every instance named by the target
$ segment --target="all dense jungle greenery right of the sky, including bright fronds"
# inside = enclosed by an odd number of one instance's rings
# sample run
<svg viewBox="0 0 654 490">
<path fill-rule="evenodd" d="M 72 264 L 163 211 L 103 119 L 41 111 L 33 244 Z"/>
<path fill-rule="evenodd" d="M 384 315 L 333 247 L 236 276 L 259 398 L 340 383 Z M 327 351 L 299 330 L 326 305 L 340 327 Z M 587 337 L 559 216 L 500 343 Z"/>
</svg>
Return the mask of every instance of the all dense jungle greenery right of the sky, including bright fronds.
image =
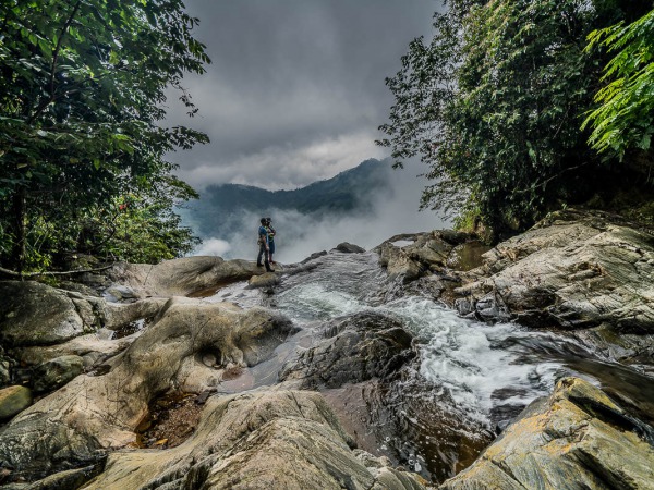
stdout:
<svg viewBox="0 0 654 490">
<path fill-rule="evenodd" d="M 422 206 L 489 241 L 579 204 L 652 223 L 652 1 L 446 4 L 386 81 L 377 142 L 428 166 Z"/>
</svg>

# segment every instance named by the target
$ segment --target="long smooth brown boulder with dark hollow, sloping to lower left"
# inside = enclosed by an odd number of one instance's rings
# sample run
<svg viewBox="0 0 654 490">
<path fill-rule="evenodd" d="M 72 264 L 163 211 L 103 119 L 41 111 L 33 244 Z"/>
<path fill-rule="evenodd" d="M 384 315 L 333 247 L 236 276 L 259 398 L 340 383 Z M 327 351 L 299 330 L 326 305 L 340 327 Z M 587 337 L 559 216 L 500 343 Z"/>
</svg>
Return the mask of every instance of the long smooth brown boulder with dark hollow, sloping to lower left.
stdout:
<svg viewBox="0 0 654 490">
<path fill-rule="evenodd" d="M 291 331 L 288 320 L 261 308 L 172 298 L 141 336 L 108 360 L 108 372 L 76 377 L 2 428 L 0 464 L 34 478 L 97 462 L 108 450 L 136 441 L 134 429 L 157 394 L 189 391 L 191 381 L 215 389 L 223 369 L 267 359 Z M 208 372 L 202 363 L 207 354 L 218 359 Z"/>
</svg>

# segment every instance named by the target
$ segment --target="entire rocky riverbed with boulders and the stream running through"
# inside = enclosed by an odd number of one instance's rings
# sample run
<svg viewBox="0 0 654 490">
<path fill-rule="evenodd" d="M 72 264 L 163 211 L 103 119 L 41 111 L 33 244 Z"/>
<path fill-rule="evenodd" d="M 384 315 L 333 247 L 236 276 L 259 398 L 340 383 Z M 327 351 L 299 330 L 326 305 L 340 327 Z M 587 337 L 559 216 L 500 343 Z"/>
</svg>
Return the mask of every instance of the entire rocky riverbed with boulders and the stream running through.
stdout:
<svg viewBox="0 0 654 490">
<path fill-rule="evenodd" d="M 654 488 L 653 280 L 650 231 L 569 210 L 3 281 L 0 485 Z"/>
</svg>

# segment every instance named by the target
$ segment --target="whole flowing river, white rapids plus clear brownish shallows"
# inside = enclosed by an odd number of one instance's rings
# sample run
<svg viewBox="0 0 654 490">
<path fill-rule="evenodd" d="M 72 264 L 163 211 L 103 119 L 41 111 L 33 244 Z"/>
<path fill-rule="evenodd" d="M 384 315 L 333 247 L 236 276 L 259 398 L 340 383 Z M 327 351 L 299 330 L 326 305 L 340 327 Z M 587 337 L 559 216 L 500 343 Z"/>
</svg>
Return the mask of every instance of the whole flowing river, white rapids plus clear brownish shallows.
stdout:
<svg viewBox="0 0 654 490">
<path fill-rule="evenodd" d="M 383 411 L 373 406 L 374 396 L 361 387 L 324 394 L 340 407 L 341 419 L 350 418 L 343 425 L 356 433 L 360 446 L 438 481 L 470 464 L 498 426 L 535 397 L 548 395 L 564 376 L 584 378 L 645 413 L 652 408 L 652 378 L 603 358 L 561 332 L 461 318 L 427 292 L 389 283 L 377 262 L 374 253 L 330 252 L 284 275 L 274 292 L 245 290 L 245 283 L 237 283 L 207 297 L 275 308 L 302 329 L 278 348 L 277 357 L 252 368 L 251 382 L 243 388 L 277 382 L 281 367 L 320 339 L 329 320 L 371 313 L 399 321 L 414 335 L 419 360 L 412 379 L 385 392 Z M 415 382 L 428 390 L 416 392 Z M 239 391 L 239 387 L 234 380 L 221 388 Z M 421 404 L 427 407 L 422 415 L 415 408 Z M 439 426 L 429 417 L 450 416 L 439 436 L 440 429 L 435 429 Z M 462 448 L 467 444 L 470 448 Z"/>
</svg>

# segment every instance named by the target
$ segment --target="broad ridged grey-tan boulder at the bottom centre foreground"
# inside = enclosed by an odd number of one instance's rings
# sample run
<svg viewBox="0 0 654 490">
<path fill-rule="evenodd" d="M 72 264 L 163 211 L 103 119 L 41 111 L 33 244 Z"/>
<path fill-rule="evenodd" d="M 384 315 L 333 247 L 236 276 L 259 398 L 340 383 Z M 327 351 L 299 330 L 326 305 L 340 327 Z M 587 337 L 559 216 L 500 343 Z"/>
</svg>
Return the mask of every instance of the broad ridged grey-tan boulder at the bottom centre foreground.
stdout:
<svg viewBox="0 0 654 490">
<path fill-rule="evenodd" d="M 324 399 L 254 391 L 207 401 L 197 430 L 167 451 L 119 451 L 87 490 L 423 489 L 420 477 L 353 452 Z"/>
</svg>

